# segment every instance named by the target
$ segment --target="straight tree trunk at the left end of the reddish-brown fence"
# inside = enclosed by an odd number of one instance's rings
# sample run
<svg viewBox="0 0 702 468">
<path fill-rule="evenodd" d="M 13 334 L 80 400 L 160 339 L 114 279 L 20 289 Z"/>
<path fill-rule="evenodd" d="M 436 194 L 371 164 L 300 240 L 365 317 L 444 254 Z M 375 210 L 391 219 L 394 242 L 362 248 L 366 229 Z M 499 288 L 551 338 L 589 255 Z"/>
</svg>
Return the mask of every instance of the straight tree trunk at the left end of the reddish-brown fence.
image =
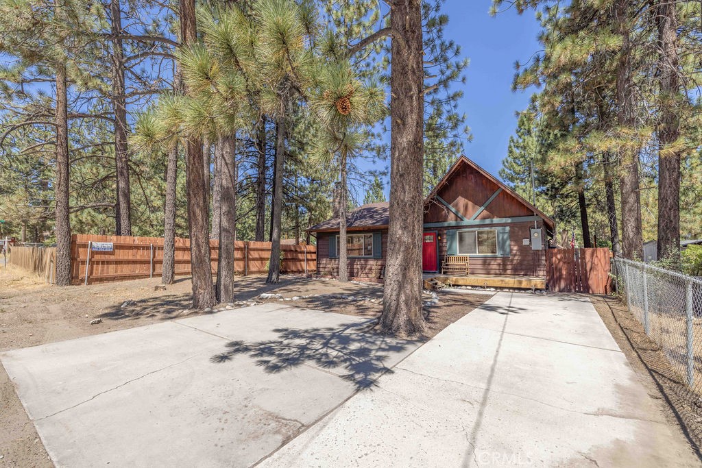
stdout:
<svg viewBox="0 0 702 468">
<path fill-rule="evenodd" d="M 58 7 L 57 7 L 58 9 Z M 58 16 L 58 12 L 57 12 Z M 71 283 L 71 220 L 69 211 L 68 96 L 66 65 L 56 64 L 56 284 Z"/>
</svg>

